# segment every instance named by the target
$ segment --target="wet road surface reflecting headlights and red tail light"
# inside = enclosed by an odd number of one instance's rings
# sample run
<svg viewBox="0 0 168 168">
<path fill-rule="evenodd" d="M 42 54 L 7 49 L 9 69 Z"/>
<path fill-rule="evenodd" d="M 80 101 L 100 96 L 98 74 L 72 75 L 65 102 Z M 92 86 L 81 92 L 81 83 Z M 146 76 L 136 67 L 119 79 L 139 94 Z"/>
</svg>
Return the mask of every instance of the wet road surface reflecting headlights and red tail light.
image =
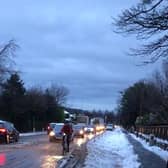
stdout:
<svg viewBox="0 0 168 168">
<path fill-rule="evenodd" d="M 90 138 L 93 136 L 75 138 L 70 151 Z M 18 143 L 0 144 L 0 168 L 55 168 L 62 157 L 61 142 L 50 143 L 47 135 L 21 137 Z"/>
</svg>

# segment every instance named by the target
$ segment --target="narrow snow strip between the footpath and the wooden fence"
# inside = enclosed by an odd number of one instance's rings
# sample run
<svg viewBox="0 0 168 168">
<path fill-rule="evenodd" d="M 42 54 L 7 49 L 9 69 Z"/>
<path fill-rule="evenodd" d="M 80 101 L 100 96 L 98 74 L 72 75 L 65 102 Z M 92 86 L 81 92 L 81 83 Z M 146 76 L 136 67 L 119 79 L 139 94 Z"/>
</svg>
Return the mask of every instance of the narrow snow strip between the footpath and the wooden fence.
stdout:
<svg viewBox="0 0 168 168">
<path fill-rule="evenodd" d="M 160 156 L 162 159 L 164 159 L 166 161 L 168 160 L 168 151 L 165 151 L 157 146 L 150 146 L 149 143 L 147 143 L 145 140 L 143 140 L 141 138 L 136 137 L 134 134 L 131 134 L 131 136 L 135 140 L 139 141 L 145 149 L 157 154 L 158 156 Z"/>
</svg>

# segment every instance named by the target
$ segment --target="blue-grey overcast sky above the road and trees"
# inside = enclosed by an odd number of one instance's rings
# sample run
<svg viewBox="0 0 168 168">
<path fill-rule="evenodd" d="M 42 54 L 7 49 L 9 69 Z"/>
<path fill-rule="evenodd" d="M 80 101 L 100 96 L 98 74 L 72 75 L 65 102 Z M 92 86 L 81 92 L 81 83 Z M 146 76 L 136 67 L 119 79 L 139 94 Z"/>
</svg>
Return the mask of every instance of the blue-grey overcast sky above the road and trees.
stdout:
<svg viewBox="0 0 168 168">
<path fill-rule="evenodd" d="M 136 2 L 5 0 L 0 40 L 20 45 L 16 66 L 26 87 L 64 85 L 69 107 L 112 110 L 120 91 L 156 68 L 136 66 L 141 60 L 126 53 L 137 41 L 113 32 L 112 17 Z"/>
</svg>

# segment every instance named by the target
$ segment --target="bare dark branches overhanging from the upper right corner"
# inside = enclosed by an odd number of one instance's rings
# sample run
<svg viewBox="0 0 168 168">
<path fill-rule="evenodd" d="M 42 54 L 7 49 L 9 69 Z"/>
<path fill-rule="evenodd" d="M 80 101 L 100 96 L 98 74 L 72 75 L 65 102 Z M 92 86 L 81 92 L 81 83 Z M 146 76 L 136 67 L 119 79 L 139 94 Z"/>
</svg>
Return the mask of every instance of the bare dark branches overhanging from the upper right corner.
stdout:
<svg viewBox="0 0 168 168">
<path fill-rule="evenodd" d="M 138 40 L 150 40 L 132 55 L 146 58 L 144 63 L 154 63 L 160 57 L 168 57 L 168 1 L 143 0 L 122 12 L 114 19 L 117 33 L 135 34 Z"/>
</svg>

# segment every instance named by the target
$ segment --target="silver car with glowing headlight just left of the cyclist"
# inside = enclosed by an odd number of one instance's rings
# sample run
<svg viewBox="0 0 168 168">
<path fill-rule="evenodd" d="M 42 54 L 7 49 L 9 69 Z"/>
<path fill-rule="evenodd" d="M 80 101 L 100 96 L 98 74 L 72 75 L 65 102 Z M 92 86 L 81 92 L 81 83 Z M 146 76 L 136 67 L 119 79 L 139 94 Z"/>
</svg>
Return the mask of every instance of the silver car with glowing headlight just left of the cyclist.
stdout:
<svg viewBox="0 0 168 168">
<path fill-rule="evenodd" d="M 55 140 L 62 140 L 61 129 L 64 123 L 55 123 L 55 126 L 52 131 L 49 133 L 49 141 L 53 142 Z"/>
</svg>

